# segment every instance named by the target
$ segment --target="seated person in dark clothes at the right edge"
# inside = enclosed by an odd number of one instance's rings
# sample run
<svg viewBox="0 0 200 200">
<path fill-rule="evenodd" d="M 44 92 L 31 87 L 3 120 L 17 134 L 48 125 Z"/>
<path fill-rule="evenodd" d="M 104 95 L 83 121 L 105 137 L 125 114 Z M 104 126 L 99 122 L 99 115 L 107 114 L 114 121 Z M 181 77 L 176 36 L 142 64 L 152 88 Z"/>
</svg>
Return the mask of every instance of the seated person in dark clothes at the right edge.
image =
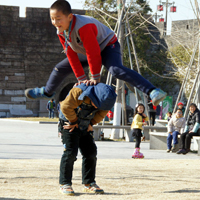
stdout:
<svg viewBox="0 0 200 200">
<path fill-rule="evenodd" d="M 181 145 L 177 154 L 187 154 L 190 151 L 191 139 L 193 136 L 199 136 L 200 111 L 196 104 L 190 104 L 190 112 L 186 122 L 184 133 L 181 134 Z"/>
</svg>

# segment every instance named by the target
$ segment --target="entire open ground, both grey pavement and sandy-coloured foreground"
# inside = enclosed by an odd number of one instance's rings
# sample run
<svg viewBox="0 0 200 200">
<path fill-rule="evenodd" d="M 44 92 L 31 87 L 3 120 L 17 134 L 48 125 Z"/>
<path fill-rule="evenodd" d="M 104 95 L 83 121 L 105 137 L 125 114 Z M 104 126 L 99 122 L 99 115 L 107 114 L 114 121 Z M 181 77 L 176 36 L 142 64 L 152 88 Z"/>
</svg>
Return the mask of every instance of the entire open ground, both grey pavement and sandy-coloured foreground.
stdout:
<svg viewBox="0 0 200 200">
<path fill-rule="evenodd" d="M 62 145 L 57 125 L 0 119 L 0 127 L 0 200 L 200 199 L 200 160 L 196 154 L 149 150 L 149 143 L 142 142 L 145 159 L 138 160 L 131 159 L 134 143 L 104 141 L 96 142 L 96 181 L 105 194 L 82 192 L 78 159 L 73 172 L 76 195 L 63 196 L 58 192 Z"/>
</svg>

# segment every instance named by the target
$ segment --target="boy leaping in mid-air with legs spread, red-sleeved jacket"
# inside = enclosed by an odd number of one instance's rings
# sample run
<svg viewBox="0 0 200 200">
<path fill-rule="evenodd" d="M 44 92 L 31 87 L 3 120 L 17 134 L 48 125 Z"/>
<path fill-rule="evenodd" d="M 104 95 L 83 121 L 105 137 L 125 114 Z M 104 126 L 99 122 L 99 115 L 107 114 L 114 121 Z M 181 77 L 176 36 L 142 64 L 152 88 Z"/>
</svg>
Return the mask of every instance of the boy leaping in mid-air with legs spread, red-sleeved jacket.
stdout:
<svg viewBox="0 0 200 200">
<path fill-rule="evenodd" d="M 65 0 L 57 0 L 52 4 L 50 17 L 67 58 L 54 67 L 45 87 L 27 89 L 26 97 L 52 98 L 56 88 L 72 70 L 78 84 L 84 82 L 95 85 L 100 82 L 103 64 L 113 77 L 126 81 L 149 95 L 154 105 L 165 98 L 165 92 L 153 86 L 136 71 L 122 65 L 117 37 L 107 26 L 92 17 L 72 14 L 71 6 Z M 88 65 L 90 80 L 87 80 L 83 70 Z"/>
</svg>

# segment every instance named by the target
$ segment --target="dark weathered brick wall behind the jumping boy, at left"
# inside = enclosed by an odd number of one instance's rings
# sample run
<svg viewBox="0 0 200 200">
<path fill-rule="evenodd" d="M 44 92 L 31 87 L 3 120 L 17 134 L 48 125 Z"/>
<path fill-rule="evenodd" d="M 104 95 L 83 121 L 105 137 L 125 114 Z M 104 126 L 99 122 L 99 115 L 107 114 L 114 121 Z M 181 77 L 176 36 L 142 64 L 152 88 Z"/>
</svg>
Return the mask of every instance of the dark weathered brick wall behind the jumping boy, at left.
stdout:
<svg viewBox="0 0 200 200">
<path fill-rule="evenodd" d="M 27 99 L 24 90 L 46 84 L 53 67 L 66 57 L 62 50 L 49 9 L 26 8 L 26 17 L 21 18 L 19 7 L 0 6 L 0 117 L 39 115 L 40 101 Z M 73 74 L 68 76 L 55 100 L 75 81 Z"/>
</svg>

